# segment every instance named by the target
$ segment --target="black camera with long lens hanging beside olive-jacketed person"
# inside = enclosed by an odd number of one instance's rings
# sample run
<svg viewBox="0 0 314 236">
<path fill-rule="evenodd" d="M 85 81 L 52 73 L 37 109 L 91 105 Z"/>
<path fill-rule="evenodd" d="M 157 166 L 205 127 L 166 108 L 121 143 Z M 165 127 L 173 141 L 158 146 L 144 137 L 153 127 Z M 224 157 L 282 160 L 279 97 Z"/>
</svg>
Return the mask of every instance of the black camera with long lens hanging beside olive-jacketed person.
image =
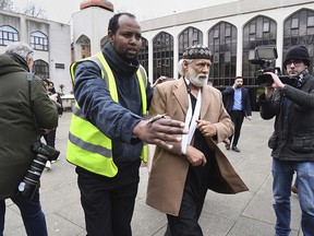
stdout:
<svg viewBox="0 0 314 236">
<path fill-rule="evenodd" d="M 33 146 L 36 154 L 23 180 L 19 185 L 19 191 L 25 198 L 33 199 L 39 187 L 39 178 L 45 169 L 47 161 L 56 161 L 60 152 L 49 145 L 37 141 Z"/>
</svg>

